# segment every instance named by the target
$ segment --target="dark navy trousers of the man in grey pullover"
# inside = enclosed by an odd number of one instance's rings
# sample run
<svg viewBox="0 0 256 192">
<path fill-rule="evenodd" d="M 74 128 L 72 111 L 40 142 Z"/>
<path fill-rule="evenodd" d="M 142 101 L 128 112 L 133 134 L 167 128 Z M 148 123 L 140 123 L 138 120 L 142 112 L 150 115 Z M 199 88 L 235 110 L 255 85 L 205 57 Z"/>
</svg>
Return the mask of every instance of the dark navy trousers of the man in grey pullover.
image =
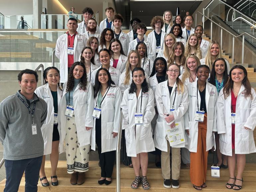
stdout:
<svg viewBox="0 0 256 192">
<path fill-rule="evenodd" d="M 25 191 L 36 192 L 42 159 L 43 156 L 21 160 L 5 160 L 6 182 L 4 192 L 18 191 L 24 171 Z"/>
</svg>

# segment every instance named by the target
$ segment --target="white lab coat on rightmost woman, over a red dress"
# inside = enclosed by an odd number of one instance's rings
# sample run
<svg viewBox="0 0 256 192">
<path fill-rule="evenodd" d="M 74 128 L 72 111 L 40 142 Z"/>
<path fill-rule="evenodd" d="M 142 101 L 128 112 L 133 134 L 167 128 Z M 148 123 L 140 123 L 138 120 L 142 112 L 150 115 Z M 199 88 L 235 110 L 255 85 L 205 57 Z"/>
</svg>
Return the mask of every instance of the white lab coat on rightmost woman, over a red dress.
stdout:
<svg viewBox="0 0 256 192">
<path fill-rule="evenodd" d="M 252 99 L 244 96 L 242 85 L 236 99 L 235 154 L 255 153 L 253 130 L 256 126 L 256 93 L 251 88 Z M 246 130 L 248 127 L 251 130 Z M 225 99 L 223 89 L 217 101 L 217 130 L 219 149 L 224 155 L 232 156 L 231 93 Z"/>
</svg>

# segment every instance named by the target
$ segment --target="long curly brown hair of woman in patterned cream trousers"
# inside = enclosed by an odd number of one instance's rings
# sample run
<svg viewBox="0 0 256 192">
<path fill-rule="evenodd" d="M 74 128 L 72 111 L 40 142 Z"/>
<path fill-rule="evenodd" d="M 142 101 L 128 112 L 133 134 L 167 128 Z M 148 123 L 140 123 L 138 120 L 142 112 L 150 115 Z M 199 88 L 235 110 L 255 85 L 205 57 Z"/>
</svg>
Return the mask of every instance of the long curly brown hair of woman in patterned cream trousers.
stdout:
<svg viewBox="0 0 256 192">
<path fill-rule="evenodd" d="M 68 76 L 67 76 L 67 88 L 66 92 L 72 91 L 74 88 L 74 76 L 73 76 L 73 70 L 76 65 L 82 66 L 83 67 L 83 76 L 80 78 L 79 82 L 79 89 L 85 91 L 86 90 L 86 84 L 87 84 L 87 75 L 86 75 L 86 69 L 85 66 L 82 62 L 76 61 L 72 64 L 70 67 Z"/>
</svg>

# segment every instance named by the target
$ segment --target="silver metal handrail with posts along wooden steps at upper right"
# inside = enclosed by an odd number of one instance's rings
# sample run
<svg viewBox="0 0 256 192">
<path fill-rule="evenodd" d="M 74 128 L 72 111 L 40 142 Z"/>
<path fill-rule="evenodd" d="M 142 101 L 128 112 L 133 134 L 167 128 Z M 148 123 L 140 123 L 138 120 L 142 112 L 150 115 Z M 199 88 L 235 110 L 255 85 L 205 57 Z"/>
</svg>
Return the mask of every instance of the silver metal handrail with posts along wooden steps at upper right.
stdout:
<svg viewBox="0 0 256 192">
<path fill-rule="evenodd" d="M 202 13 L 199 12 L 199 11 L 197 11 L 197 12 L 195 13 L 195 24 L 196 24 L 196 16 L 197 16 L 197 13 L 201 14 L 201 15 L 203 16 L 203 18 L 205 17 L 205 18 L 207 18 L 207 19 L 211 22 L 211 37 L 210 37 L 211 40 L 212 40 L 212 24 L 214 23 L 215 25 L 217 25 L 218 27 L 221 28 L 221 31 L 220 31 L 220 47 L 222 47 L 222 30 L 225 30 L 227 33 L 229 33 L 230 35 L 233 36 L 233 41 L 232 41 L 232 63 L 234 63 L 234 48 L 235 48 L 235 45 L 234 45 L 234 44 L 235 44 L 235 38 L 238 38 L 238 37 L 240 37 L 240 36 L 243 36 L 243 40 L 242 40 L 242 62 L 241 62 L 241 63 L 243 64 L 243 63 L 244 63 L 244 35 L 248 35 L 248 36 L 250 36 L 251 38 L 253 38 L 253 39 L 255 39 L 255 40 L 256 40 L 256 38 L 255 38 L 254 36 L 252 36 L 252 35 L 246 33 L 246 32 L 244 32 L 244 33 L 242 33 L 242 34 L 236 36 L 235 34 L 233 34 L 233 33 L 229 32 L 228 30 L 224 29 L 224 28 L 221 27 L 219 24 L 215 23 L 214 21 L 212 21 L 210 18 L 208 18 L 206 15 L 202 14 Z M 204 26 L 204 22 L 203 22 L 203 26 Z"/>
</svg>

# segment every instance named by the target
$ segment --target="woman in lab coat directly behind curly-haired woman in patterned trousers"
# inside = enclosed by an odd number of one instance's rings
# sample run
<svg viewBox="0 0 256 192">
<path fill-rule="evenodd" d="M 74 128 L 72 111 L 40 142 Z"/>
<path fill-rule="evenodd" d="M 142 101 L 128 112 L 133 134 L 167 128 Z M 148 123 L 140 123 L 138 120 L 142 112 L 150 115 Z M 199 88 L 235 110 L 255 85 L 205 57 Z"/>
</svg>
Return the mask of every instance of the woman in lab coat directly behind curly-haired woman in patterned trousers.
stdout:
<svg viewBox="0 0 256 192">
<path fill-rule="evenodd" d="M 87 81 L 91 81 L 91 73 L 98 67 L 94 65 L 93 50 L 90 47 L 84 47 L 81 56 L 81 62 L 84 64 L 86 69 Z"/>
</svg>

